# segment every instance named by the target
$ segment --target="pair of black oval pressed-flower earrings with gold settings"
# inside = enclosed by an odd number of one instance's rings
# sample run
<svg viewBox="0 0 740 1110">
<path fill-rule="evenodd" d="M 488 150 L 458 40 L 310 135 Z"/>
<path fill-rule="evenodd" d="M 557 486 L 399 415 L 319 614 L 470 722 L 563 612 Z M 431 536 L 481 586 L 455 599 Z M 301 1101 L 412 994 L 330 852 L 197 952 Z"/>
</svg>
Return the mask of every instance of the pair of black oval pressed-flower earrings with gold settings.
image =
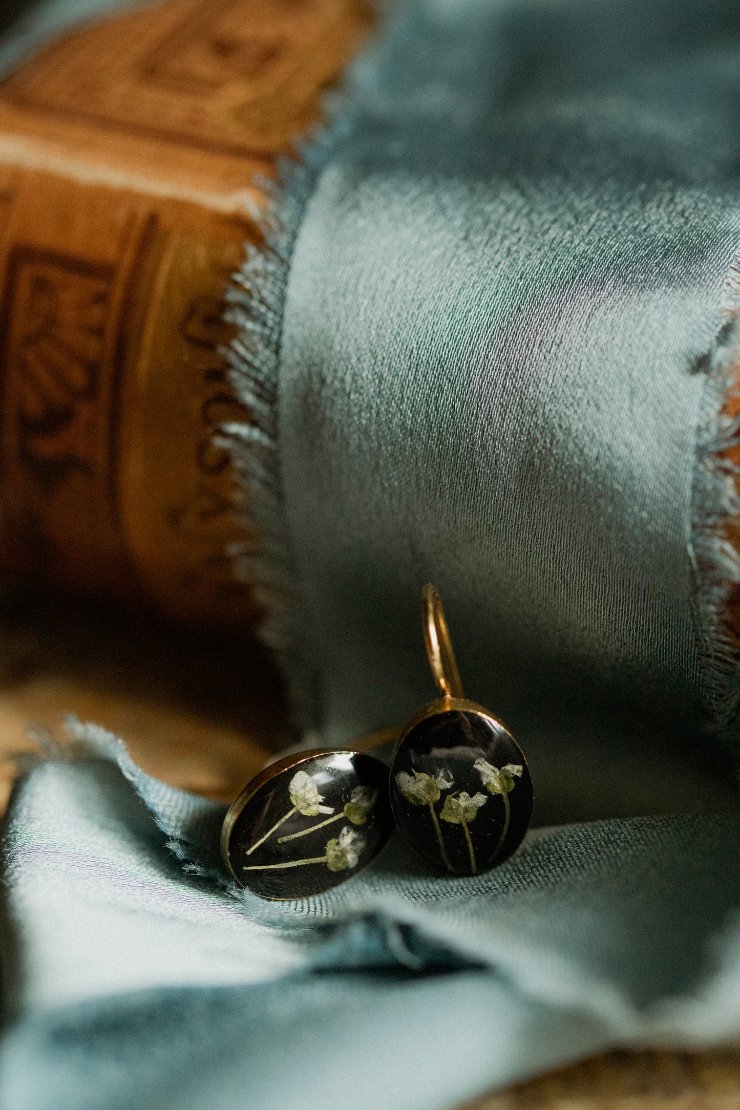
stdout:
<svg viewBox="0 0 740 1110">
<path fill-rule="evenodd" d="M 527 761 L 501 723 L 464 697 L 434 586 L 422 614 L 439 697 L 402 729 L 389 774 L 374 756 L 336 748 L 266 767 L 221 834 L 241 886 L 272 899 L 323 894 L 367 867 L 394 827 L 447 875 L 478 875 L 518 848 L 533 806 Z"/>
</svg>

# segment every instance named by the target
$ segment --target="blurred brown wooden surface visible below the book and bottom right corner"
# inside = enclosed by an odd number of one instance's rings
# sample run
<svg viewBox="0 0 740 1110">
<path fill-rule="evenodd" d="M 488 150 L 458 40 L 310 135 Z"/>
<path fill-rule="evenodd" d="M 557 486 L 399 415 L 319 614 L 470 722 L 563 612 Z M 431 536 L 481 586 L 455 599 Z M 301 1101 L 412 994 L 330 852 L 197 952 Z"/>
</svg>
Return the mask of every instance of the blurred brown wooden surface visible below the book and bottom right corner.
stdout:
<svg viewBox="0 0 740 1110">
<path fill-rule="evenodd" d="M 135 623 L 110 608 L 34 602 L 0 612 L 0 790 L 29 724 L 77 713 L 123 736 L 148 771 L 230 800 L 290 743 L 274 673 L 254 645 Z M 740 1110 L 740 1050 L 611 1052 L 464 1110 Z"/>
</svg>

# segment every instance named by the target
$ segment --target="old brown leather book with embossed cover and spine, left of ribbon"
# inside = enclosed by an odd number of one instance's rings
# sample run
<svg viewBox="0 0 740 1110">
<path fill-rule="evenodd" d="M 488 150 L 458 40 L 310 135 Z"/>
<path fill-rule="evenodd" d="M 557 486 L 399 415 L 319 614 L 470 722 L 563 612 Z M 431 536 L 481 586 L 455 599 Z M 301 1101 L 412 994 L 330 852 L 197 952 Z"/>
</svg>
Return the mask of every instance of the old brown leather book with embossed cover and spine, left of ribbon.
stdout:
<svg viewBox="0 0 740 1110">
<path fill-rule="evenodd" d="M 260 613 L 215 426 L 255 184 L 320 121 L 362 0 L 161 0 L 0 84 L 0 571 L 178 620 Z"/>
</svg>

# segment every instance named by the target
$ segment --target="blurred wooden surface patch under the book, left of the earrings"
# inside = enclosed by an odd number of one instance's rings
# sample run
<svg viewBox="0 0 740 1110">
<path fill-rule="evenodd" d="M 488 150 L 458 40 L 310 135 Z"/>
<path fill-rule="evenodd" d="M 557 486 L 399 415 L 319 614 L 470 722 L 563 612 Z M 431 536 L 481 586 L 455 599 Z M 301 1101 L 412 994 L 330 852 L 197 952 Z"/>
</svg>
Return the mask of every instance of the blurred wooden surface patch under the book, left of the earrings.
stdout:
<svg viewBox="0 0 740 1110">
<path fill-rule="evenodd" d="M 125 737 L 158 778 L 230 801 L 291 743 L 277 678 L 247 640 L 125 617 L 93 603 L 0 612 L 0 801 L 29 726 L 63 739 L 75 714 Z"/>
</svg>

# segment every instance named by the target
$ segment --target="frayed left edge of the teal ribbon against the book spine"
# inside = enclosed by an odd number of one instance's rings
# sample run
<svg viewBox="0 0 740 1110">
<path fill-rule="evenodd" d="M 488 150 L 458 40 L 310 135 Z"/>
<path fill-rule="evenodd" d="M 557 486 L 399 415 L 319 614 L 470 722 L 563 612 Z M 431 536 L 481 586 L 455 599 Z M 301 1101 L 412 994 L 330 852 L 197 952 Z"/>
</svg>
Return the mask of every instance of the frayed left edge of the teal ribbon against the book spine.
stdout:
<svg viewBox="0 0 740 1110">
<path fill-rule="evenodd" d="M 315 725 L 315 707 L 302 649 L 306 633 L 298 616 L 280 465 L 280 351 L 295 240 L 316 179 L 343 133 L 343 127 L 334 125 L 314 135 L 297 161 L 280 165 L 278 182 L 259 182 L 268 200 L 266 210 L 255 212 L 263 240 L 247 244 L 246 259 L 232 275 L 224 314 L 237 334 L 223 354 L 251 422 L 224 424 L 215 436 L 233 460 L 237 511 L 246 533 L 254 536 L 232 544 L 227 554 L 234 574 L 251 584 L 264 612 L 257 633 L 277 659 L 295 724 L 303 728 Z"/>
</svg>

